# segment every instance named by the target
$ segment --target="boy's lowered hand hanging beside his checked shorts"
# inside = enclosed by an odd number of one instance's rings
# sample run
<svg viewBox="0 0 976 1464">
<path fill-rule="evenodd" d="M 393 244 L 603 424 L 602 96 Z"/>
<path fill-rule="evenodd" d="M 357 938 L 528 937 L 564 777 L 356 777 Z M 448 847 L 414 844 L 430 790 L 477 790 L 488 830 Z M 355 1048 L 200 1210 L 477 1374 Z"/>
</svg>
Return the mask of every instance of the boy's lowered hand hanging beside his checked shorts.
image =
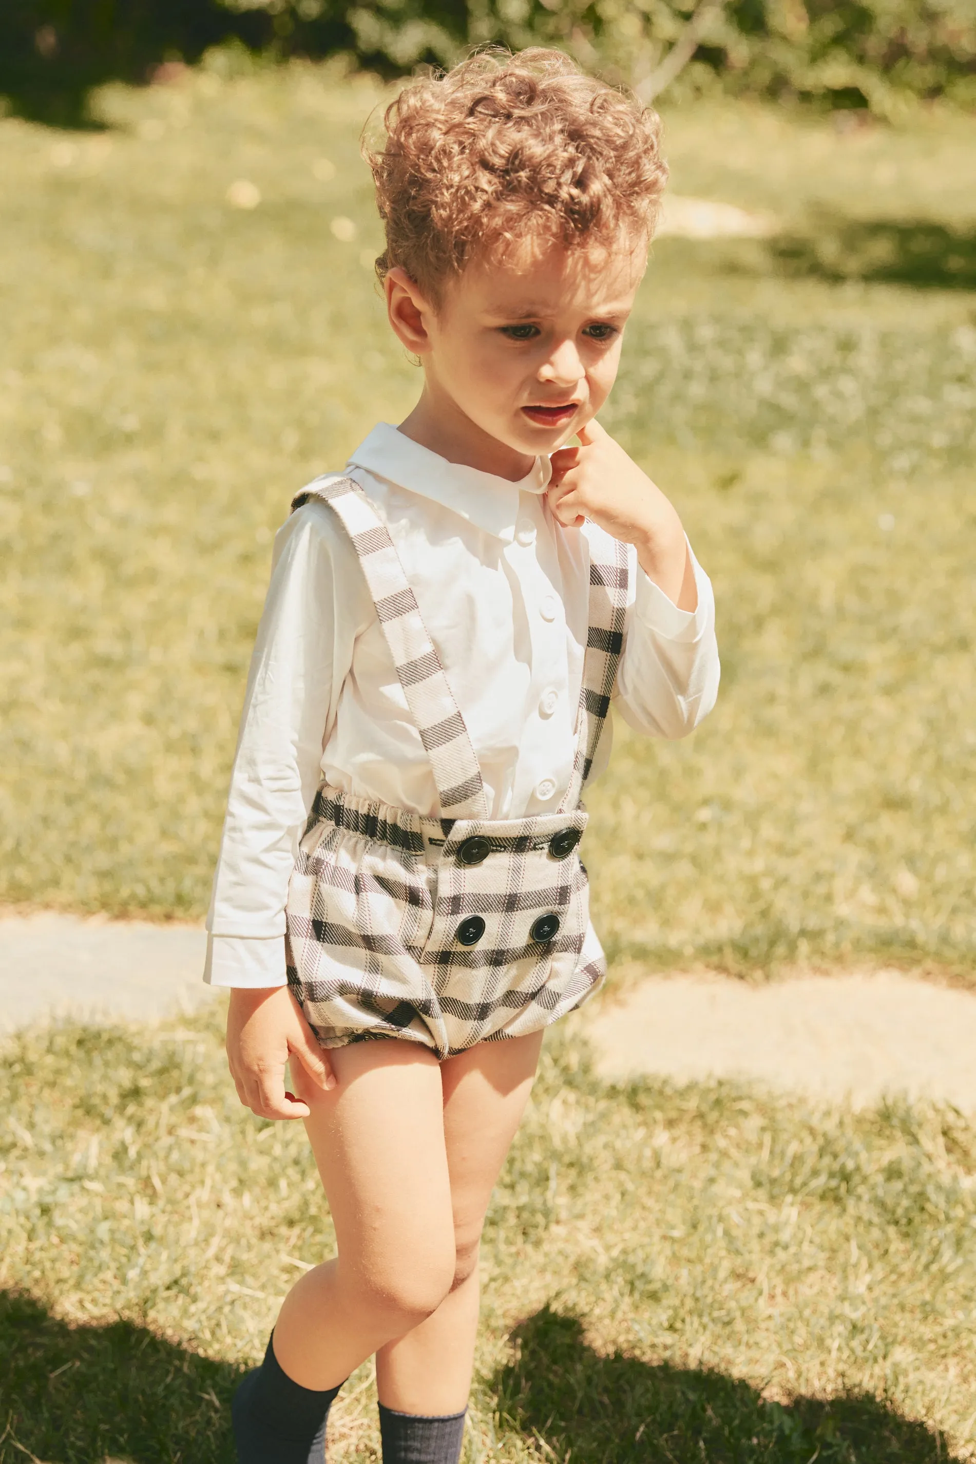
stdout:
<svg viewBox="0 0 976 1464">
<path fill-rule="evenodd" d="M 234 987 L 227 1009 L 227 1061 L 237 1097 L 259 1118 L 309 1117 L 307 1102 L 285 1092 L 290 1057 L 319 1088 L 335 1088 L 329 1061 L 288 988 Z"/>
</svg>

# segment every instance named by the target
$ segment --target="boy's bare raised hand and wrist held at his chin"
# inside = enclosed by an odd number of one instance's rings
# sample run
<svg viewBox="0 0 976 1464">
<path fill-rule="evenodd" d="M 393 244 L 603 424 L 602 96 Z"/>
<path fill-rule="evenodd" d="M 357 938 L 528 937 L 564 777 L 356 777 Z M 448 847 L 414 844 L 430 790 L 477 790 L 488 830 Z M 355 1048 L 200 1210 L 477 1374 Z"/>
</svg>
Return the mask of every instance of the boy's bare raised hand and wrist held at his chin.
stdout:
<svg viewBox="0 0 976 1464">
<path fill-rule="evenodd" d="M 591 518 L 615 539 L 634 545 L 648 580 L 680 610 L 694 610 L 695 572 L 675 507 L 598 422 L 588 422 L 577 436 L 579 447 L 552 455 L 546 496 L 556 520 L 579 529 Z"/>
</svg>

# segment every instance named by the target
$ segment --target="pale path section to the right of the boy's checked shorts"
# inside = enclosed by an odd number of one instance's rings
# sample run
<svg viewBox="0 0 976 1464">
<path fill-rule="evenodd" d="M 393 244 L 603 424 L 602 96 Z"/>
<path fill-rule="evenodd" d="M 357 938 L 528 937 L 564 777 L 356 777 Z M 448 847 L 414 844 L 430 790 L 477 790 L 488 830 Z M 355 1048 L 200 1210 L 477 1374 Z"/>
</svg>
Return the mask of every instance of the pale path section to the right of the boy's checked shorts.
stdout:
<svg viewBox="0 0 976 1464">
<path fill-rule="evenodd" d="M 761 987 L 648 978 L 577 1020 L 610 1079 L 745 1078 L 856 1105 L 903 1092 L 976 1113 L 976 996 L 894 971 Z"/>
</svg>

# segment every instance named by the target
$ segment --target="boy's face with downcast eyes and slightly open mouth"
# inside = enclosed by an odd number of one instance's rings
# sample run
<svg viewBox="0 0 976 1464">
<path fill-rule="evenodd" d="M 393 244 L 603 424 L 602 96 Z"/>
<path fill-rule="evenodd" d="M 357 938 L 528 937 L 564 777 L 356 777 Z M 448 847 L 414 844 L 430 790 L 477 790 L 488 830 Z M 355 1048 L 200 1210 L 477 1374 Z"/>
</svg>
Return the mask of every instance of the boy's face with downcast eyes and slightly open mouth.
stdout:
<svg viewBox="0 0 976 1464">
<path fill-rule="evenodd" d="M 645 262 L 631 234 L 610 249 L 527 243 L 474 259 L 438 309 L 414 287 L 432 407 L 508 448 L 514 471 L 562 447 L 613 386 Z"/>
</svg>

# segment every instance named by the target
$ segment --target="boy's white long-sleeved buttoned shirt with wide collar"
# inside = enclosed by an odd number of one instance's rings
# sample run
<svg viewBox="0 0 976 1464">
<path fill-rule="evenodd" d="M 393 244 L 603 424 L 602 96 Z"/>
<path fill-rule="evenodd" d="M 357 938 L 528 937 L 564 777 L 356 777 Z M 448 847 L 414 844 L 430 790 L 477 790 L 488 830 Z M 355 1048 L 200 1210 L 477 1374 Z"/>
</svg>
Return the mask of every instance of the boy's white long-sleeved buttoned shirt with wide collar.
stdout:
<svg viewBox="0 0 976 1464">
<path fill-rule="evenodd" d="M 553 813 L 572 770 L 590 603 L 585 533 L 543 495 L 549 460 L 519 483 L 459 467 L 385 423 L 348 463 L 389 529 L 477 754 L 492 818 Z M 631 550 L 615 707 L 677 738 L 718 690 L 714 602 L 679 610 Z M 593 776 L 610 755 L 604 729 Z M 356 552 L 322 501 L 275 537 L 250 662 L 214 896 L 205 981 L 285 984 L 285 900 L 322 779 L 420 814 L 438 792 Z"/>
</svg>

